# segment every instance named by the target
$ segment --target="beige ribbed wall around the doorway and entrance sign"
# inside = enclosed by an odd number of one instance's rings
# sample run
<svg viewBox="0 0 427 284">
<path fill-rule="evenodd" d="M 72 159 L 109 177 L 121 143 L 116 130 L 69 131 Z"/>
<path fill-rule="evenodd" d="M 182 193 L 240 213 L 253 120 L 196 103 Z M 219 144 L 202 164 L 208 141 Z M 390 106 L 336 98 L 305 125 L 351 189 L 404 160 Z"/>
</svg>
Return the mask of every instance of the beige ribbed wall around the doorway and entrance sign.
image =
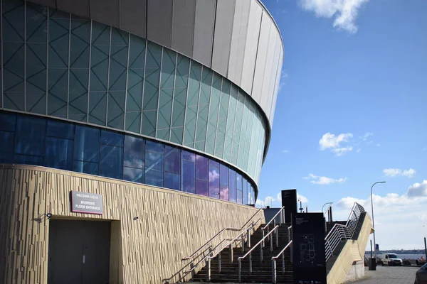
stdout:
<svg viewBox="0 0 427 284">
<path fill-rule="evenodd" d="M 104 214 L 70 212 L 72 190 L 102 195 Z M 46 213 L 112 220 L 110 283 L 158 284 L 179 271 L 181 258 L 224 227 L 241 227 L 257 210 L 122 180 L 0 165 L 0 283 L 47 283 Z"/>
</svg>

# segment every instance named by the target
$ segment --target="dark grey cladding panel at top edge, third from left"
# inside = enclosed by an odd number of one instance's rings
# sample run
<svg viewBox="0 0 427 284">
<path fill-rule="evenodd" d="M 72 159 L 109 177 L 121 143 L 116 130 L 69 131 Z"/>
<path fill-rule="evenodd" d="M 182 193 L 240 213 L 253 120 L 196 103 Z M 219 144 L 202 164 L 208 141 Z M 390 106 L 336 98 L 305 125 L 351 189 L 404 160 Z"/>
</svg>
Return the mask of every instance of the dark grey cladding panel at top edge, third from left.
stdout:
<svg viewBox="0 0 427 284">
<path fill-rule="evenodd" d="M 119 27 L 119 0 L 90 0 L 90 18 Z"/>
</svg>

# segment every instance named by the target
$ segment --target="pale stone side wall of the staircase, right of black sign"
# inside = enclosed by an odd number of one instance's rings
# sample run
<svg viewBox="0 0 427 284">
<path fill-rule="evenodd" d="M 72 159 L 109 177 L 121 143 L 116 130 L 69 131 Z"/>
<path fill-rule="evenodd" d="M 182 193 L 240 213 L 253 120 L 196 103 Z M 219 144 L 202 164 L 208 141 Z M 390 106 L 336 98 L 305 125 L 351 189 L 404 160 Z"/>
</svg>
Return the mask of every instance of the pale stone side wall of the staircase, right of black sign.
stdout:
<svg viewBox="0 0 427 284">
<path fill-rule="evenodd" d="M 344 248 L 337 260 L 332 266 L 332 269 L 327 274 L 327 284 L 341 284 L 347 279 L 347 275 L 352 274 L 354 263 L 364 261 L 364 251 L 367 246 L 369 235 L 371 234 L 372 221 L 369 214 L 364 218 L 362 228 L 360 229 L 359 237 L 357 240 L 347 240 Z M 359 271 L 360 274 L 360 271 Z"/>
</svg>

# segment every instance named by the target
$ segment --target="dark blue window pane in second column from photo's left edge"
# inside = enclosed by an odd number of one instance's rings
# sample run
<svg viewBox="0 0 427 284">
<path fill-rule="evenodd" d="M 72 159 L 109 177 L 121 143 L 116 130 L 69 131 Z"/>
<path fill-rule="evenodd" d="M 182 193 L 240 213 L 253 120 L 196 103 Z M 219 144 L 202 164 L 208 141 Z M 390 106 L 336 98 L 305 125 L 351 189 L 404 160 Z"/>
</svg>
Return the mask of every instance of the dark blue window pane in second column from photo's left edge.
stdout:
<svg viewBox="0 0 427 284">
<path fill-rule="evenodd" d="M 44 119 L 34 116 L 18 116 L 16 121 L 15 153 L 43 156 L 45 138 L 46 121 Z"/>
</svg>

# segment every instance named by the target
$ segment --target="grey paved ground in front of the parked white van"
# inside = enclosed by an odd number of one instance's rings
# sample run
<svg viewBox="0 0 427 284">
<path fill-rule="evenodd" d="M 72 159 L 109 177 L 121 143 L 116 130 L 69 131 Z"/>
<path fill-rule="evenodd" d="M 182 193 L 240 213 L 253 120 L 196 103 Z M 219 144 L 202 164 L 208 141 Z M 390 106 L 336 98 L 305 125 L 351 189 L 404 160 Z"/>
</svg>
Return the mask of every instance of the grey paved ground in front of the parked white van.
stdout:
<svg viewBox="0 0 427 284">
<path fill-rule="evenodd" d="M 419 267 L 377 266 L 376 271 L 369 271 L 365 267 L 365 278 L 354 281 L 352 284 L 413 284 L 418 269 Z"/>
</svg>

